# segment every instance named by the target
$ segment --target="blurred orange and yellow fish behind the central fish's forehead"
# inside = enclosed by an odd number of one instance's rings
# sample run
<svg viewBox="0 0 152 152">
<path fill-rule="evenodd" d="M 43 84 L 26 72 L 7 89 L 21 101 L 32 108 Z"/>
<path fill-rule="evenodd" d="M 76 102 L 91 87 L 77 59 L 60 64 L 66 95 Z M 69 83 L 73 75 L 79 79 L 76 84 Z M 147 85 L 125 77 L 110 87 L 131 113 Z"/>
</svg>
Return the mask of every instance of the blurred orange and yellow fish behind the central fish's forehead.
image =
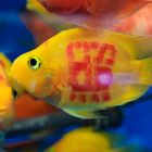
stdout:
<svg viewBox="0 0 152 152">
<path fill-rule="evenodd" d="M 26 7 L 25 10 L 20 12 L 20 17 L 33 34 L 36 46 L 41 45 L 67 25 L 55 20 L 54 16 L 51 17 L 49 12 L 37 0 L 27 0 Z"/>
</svg>

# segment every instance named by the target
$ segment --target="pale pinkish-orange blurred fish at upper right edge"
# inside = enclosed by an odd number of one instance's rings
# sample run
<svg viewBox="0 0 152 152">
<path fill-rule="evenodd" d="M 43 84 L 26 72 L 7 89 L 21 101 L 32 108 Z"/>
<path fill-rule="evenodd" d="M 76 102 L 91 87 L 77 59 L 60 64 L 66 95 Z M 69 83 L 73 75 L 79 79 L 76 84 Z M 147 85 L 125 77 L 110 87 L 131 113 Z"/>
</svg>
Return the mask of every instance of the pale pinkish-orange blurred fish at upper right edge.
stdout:
<svg viewBox="0 0 152 152">
<path fill-rule="evenodd" d="M 134 14 L 132 16 L 124 20 L 121 25 L 114 29 L 126 34 L 152 36 L 152 3 Z"/>
</svg>

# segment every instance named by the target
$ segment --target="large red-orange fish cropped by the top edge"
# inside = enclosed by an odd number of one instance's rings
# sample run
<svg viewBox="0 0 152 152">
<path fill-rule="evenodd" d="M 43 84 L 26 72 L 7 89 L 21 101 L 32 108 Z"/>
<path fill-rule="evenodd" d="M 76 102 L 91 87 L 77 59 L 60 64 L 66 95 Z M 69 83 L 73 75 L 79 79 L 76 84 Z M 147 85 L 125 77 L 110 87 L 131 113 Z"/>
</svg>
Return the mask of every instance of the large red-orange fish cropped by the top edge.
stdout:
<svg viewBox="0 0 152 152">
<path fill-rule="evenodd" d="M 38 0 L 49 12 L 76 25 L 111 28 L 151 0 Z M 30 0 L 28 0 L 30 2 Z"/>
</svg>

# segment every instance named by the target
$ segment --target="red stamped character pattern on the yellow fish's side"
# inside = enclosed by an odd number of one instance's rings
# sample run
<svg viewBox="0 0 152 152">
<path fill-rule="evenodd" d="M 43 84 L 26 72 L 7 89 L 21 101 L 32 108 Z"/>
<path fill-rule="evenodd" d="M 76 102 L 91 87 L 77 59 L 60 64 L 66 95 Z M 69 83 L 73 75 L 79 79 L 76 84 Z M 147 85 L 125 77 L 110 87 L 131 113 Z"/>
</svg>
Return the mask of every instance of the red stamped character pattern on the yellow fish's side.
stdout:
<svg viewBox="0 0 152 152">
<path fill-rule="evenodd" d="M 76 49 L 79 49 L 83 53 L 83 59 L 79 59 L 79 61 L 75 61 Z M 91 56 L 91 50 L 94 50 L 94 56 Z M 72 92 L 76 93 L 76 96 L 71 93 L 69 99 L 76 100 L 79 97 L 80 102 L 85 103 L 87 94 L 80 94 L 81 92 L 90 92 L 89 98 L 93 102 L 99 102 L 100 99 L 103 101 L 111 100 L 112 65 L 115 63 L 116 54 L 114 46 L 102 45 L 97 41 L 76 41 L 68 45 L 66 54 L 69 69 L 68 80 L 72 86 Z M 84 74 L 81 81 L 78 80 L 79 74 Z"/>
</svg>

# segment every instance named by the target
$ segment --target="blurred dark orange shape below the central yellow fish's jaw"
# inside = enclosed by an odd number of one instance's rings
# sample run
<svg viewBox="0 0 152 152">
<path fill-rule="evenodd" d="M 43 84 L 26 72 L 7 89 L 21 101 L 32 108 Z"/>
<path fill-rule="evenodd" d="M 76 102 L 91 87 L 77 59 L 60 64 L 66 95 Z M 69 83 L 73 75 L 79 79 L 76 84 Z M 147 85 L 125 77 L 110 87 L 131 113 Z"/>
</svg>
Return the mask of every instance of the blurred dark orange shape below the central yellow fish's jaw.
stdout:
<svg viewBox="0 0 152 152">
<path fill-rule="evenodd" d="M 24 109 L 26 107 L 26 109 Z M 42 100 L 36 100 L 30 94 L 24 93 L 15 101 L 15 121 L 38 117 L 55 113 L 56 110 Z"/>
</svg>

